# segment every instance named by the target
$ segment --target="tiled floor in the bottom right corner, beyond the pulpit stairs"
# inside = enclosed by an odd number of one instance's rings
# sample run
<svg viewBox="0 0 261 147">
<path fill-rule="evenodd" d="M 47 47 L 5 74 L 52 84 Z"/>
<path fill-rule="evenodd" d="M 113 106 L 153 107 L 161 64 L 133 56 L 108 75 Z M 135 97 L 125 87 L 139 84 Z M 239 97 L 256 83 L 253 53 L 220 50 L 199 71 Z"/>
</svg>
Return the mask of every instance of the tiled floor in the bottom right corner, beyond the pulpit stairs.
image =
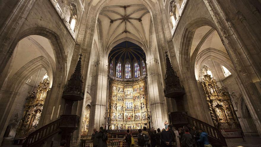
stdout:
<svg viewBox="0 0 261 147">
<path fill-rule="evenodd" d="M 230 138 L 226 139 L 227 146 L 229 147 L 261 147 L 260 137 L 244 137 L 242 138 Z"/>
</svg>

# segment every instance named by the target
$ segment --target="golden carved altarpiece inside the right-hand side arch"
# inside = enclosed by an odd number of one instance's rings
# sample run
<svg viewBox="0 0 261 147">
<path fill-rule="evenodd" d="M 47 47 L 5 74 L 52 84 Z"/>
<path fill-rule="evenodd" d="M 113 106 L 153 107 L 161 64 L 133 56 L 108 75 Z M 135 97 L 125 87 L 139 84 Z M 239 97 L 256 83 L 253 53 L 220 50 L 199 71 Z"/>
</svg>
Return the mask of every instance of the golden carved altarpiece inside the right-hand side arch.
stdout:
<svg viewBox="0 0 261 147">
<path fill-rule="evenodd" d="M 219 88 L 216 80 L 211 78 L 211 75 L 204 75 L 200 78 L 200 81 L 214 126 L 218 129 L 240 128 L 230 95 L 225 88 Z"/>
</svg>

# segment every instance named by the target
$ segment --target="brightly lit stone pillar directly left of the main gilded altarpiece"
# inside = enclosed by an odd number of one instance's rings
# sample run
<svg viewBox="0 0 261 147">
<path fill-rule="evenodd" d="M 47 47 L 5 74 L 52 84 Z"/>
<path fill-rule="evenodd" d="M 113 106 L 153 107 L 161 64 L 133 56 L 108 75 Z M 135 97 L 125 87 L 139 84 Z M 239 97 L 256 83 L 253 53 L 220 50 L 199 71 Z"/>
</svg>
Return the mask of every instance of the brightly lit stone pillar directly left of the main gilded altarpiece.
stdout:
<svg viewBox="0 0 261 147">
<path fill-rule="evenodd" d="M 99 130 L 101 126 L 104 127 L 104 115 L 107 112 L 108 62 L 100 59 L 97 66 L 96 86 L 91 102 L 88 132 L 93 132 L 93 128 Z"/>
</svg>

